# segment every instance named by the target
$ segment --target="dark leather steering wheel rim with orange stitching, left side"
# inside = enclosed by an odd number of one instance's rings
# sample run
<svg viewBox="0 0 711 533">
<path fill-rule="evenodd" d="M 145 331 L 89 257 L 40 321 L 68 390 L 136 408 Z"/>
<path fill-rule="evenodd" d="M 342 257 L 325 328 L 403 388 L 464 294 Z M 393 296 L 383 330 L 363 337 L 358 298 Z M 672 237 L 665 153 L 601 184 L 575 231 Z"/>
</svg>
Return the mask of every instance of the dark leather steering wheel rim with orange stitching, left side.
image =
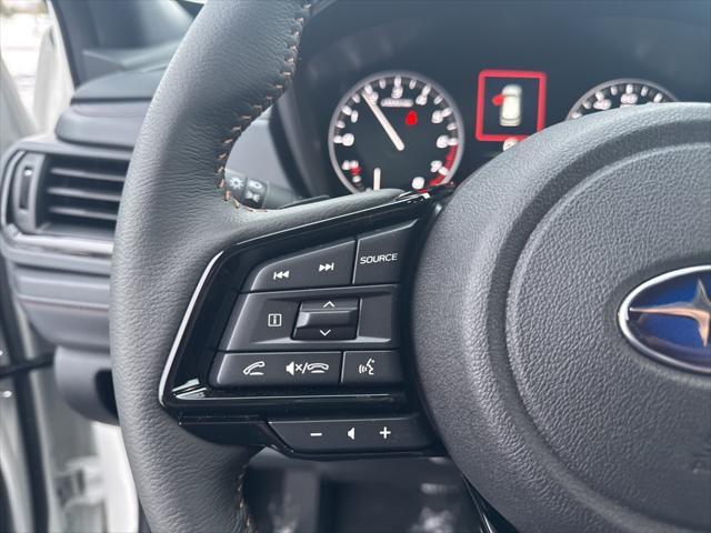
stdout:
<svg viewBox="0 0 711 533">
<path fill-rule="evenodd" d="M 253 212 L 221 188 L 232 143 L 289 86 L 310 6 L 209 2 L 146 117 L 123 190 L 111 288 L 111 354 L 131 470 L 154 532 L 253 531 L 242 499 L 253 450 L 202 441 L 158 403 L 160 375 L 194 286 L 217 251 L 397 191 Z"/>
</svg>

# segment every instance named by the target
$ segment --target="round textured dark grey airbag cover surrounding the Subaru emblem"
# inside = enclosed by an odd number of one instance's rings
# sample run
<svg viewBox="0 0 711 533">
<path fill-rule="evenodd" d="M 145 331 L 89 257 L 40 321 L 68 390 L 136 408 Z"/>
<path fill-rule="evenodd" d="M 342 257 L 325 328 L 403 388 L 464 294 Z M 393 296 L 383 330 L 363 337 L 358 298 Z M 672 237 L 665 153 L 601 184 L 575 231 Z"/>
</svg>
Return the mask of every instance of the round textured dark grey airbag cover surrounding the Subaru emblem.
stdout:
<svg viewBox="0 0 711 533">
<path fill-rule="evenodd" d="M 617 321 L 641 282 L 711 262 L 709 177 L 710 105 L 605 112 L 498 157 L 434 224 L 423 389 L 457 464 L 522 531 L 711 526 L 694 466 L 711 381 L 637 352 Z"/>
</svg>

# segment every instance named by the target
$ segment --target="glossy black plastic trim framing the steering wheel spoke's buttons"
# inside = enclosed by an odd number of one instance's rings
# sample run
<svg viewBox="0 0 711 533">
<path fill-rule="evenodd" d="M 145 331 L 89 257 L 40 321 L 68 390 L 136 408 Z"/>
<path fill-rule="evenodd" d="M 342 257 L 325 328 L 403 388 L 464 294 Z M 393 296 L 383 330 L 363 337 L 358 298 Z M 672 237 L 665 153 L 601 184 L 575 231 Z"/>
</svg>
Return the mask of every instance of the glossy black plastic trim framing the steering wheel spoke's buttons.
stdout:
<svg viewBox="0 0 711 533">
<path fill-rule="evenodd" d="M 328 460 L 442 455 L 443 450 L 437 441 L 423 450 L 300 453 L 289 449 L 266 425 L 272 418 L 378 418 L 424 413 L 418 395 L 414 360 L 408 335 L 402 335 L 399 344 L 405 380 L 390 386 L 218 390 L 210 386 L 208 374 L 216 353 L 210 346 L 214 346 L 222 335 L 238 292 L 254 266 L 319 244 L 412 220 L 418 220 L 411 239 L 411 250 L 415 252 L 419 248 L 419 243 L 414 242 L 415 234 L 420 230 L 425 231 L 430 219 L 441 209 L 440 201 L 448 192 L 449 189 L 440 188 L 424 193 L 404 194 L 385 205 L 270 234 L 218 253 L 203 272 L 173 342 L 159 389 L 161 405 L 187 430 L 204 439 L 231 444 L 269 445 L 291 456 Z M 401 310 L 409 309 L 411 270 L 405 269 L 401 280 Z M 349 288 L 353 291 L 359 289 L 368 288 Z M 397 320 L 400 322 L 398 329 L 408 332 L 409 313 L 398 313 Z M 422 419 L 427 420 L 427 413 Z M 431 431 L 430 428 L 425 430 Z"/>
</svg>

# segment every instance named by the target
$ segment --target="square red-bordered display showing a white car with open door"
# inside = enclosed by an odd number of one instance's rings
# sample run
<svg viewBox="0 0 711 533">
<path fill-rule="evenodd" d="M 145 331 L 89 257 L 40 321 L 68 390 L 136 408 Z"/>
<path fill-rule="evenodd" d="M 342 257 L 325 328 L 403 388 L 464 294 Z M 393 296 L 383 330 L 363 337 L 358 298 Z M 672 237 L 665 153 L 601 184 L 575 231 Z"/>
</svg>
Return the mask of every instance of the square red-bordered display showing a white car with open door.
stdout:
<svg viewBox="0 0 711 533">
<path fill-rule="evenodd" d="M 479 141 L 520 141 L 545 128 L 545 72 L 482 70 L 477 83 Z"/>
</svg>

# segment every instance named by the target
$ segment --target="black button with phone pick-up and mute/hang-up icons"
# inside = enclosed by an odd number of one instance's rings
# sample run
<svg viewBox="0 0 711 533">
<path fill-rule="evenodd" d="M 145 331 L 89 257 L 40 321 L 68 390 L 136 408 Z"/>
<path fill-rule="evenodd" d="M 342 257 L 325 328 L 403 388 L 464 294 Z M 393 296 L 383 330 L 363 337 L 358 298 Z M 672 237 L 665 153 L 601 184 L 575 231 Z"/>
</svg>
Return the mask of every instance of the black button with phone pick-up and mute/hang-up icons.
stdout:
<svg viewBox="0 0 711 533">
<path fill-rule="evenodd" d="M 220 353 L 210 371 L 212 386 L 334 385 L 340 352 Z"/>
</svg>

